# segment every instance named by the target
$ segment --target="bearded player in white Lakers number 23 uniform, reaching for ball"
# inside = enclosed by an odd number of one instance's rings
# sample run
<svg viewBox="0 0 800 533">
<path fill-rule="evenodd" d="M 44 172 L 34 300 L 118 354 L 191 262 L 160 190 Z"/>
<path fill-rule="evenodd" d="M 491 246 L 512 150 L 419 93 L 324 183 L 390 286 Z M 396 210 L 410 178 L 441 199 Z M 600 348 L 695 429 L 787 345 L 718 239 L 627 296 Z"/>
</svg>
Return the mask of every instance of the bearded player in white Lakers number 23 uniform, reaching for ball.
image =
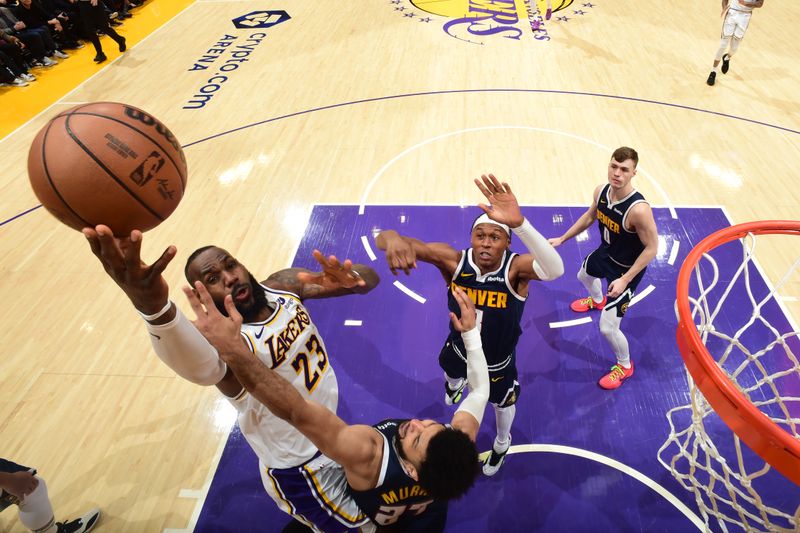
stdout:
<svg viewBox="0 0 800 533">
<path fill-rule="evenodd" d="M 140 259 L 141 232 L 115 238 L 107 226 L 83 231 L 106 273 L 144 318 L 158 357 L 188 381 L 215 385 L 236 408 L 242 434 L 259 459 L 264 488 L 278 507 L 312 531 L 339 532 L 366 523 L 367 517 L 354 503 L 332 509 L 317 498 L 307 476 L 330 469 L 333 461 L 318 457 L 319 450 L 310 439 L 249 394 L 169 299 L 162 272 L 175 257 L 175 247 L 168 247 L 158 260 L 147 265 Z M 284 376 L 304 400 L 335 413 L 339 387 L 330 354 L 303 301 L 365 294 L 379 278 L 366 265 L 339 262 L 317 250 L 314 257 L 322 266 L 321 272 L 287 268 L 259 283 L 232 254 L 217 246 L 205 246 L 189 256 L 184 273 L 190 283 L 205 287 L 220 311 L 225 311 L 226 296 L 233 299 L 244 317 L 239 337 L 250 359 L 262 361 Z"/>
</svg>

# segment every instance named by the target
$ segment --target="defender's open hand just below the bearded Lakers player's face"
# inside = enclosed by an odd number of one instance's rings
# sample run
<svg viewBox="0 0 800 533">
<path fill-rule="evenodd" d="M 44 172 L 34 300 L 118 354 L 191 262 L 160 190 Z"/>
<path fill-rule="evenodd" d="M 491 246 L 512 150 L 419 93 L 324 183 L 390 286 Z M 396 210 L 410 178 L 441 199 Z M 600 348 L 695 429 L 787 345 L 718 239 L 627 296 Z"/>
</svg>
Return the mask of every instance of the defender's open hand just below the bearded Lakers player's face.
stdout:
<svg viewBox="0 0 800 533">
<path fill-rule="evenodd" d="M 214 300 L 202 282 L 195 281 L 194 289 L 183 288 L 197 320 L 192 321 L 211 345 L 217 349 L 219 356 L 226 360 L 227 356 L 244 348 L 242 342 L 242 315 L 236 309 L 230 294 L 225 296 L 225 311 L 228 316 L 219 312 Z"/>
</svg>

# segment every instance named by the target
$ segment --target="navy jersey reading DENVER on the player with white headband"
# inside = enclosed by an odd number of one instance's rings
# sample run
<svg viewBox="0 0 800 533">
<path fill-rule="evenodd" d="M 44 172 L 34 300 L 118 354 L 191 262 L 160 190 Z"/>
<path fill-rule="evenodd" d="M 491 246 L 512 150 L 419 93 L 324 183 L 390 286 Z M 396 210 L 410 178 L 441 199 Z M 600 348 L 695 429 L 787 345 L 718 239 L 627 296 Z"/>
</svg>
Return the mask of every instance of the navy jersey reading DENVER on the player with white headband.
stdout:
<svg viewBox="0 0 800 533">
<path fill-rule="evenodd" d="M 463 289 L 475 304 L 481 317 L 479 318 L 483 353 L 490 368 L 508 360 L 517 340 L 522 334 L 519 323 L 525 310 L 525 298 L 511 288 L 508 271 L 515 253 L 503 252 L 500 267 L 494 272 L 481 274 L 480 269 L 472 261 L 472 248 L 462 250 L 461 260 L 453 273 L 447 291 L 447 307 L 456 316 L 461 316 L 458 303 L 453 297 L 452 288 L 457 285 Z M 452 342 L 461 353 L 466 354 L 461 333 L 450 324 L 449 342 Z"/>
</svg>

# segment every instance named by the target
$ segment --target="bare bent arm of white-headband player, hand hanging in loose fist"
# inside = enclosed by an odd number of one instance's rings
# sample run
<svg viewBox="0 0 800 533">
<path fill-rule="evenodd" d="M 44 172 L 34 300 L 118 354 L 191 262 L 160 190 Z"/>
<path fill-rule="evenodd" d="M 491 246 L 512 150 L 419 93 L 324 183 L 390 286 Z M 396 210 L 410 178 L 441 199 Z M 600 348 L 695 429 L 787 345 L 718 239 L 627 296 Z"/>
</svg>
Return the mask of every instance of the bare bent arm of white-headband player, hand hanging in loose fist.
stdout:
<svg viewBox="0 0 800 533">
<path fill-rule="evenodd" d="M 397 275 L 398 270 L 406 274 L 417 268 L 417 259 L 436 266 L 449 279 L 458 266 L 461 254 L 443 242 L 424 242 L 400 235 L 394 230 L 384 230 L 375 237 L 375 244 L 386 252 L 389 270 Z"/>
</svg>

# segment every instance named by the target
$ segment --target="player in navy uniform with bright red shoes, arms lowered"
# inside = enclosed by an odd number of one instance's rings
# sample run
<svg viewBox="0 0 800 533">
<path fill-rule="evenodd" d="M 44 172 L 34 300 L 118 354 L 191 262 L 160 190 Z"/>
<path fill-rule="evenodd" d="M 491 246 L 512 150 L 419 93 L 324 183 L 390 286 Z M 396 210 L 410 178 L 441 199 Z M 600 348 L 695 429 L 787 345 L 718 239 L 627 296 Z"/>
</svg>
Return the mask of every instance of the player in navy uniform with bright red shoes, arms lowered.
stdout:
<svg viewBox="0 0 800 533">
<path fill-rule="evenodd" d="M 600 311 L 600 331 L 617 359 L 598 382 L 607 390 L 633 376 L 628 340 L 620 324 L 658 250 L 653 211 L 632 184 L 638 163 L 639 154 L 633 148 L 615 150 L 608 164 L 608 183 L 595 188 L 592 205 L 562 236 L 550 239 L 553 246 L 561 246 L 598 221 L 600 246 L 586 256 L 578 271 L 589 296 L 575 300 L 570 307 L 575 312 Z M 608 283 L 607 294 L 603 294 L 601 278 Z"/>
</svg>

